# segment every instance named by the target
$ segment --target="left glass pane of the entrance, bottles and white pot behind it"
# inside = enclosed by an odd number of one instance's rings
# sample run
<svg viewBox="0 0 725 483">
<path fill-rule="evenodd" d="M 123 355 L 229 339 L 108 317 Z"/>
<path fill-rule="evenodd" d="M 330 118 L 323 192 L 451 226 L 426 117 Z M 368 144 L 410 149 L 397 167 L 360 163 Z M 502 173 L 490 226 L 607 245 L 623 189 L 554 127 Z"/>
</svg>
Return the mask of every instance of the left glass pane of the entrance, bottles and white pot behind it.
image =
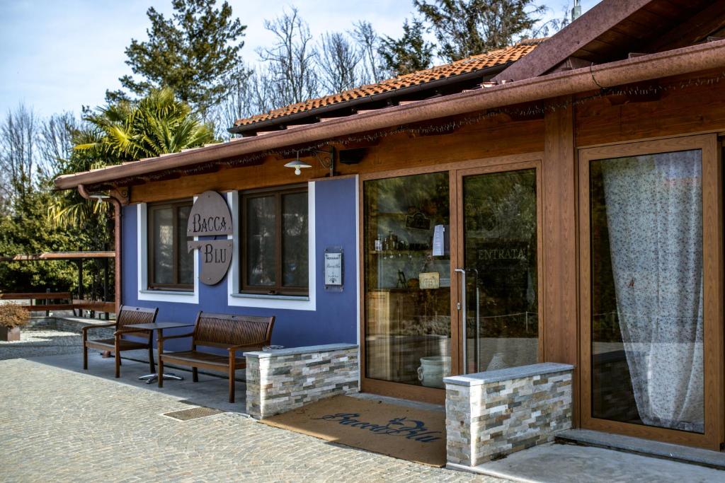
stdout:
<svg viewBox="0 0 725 483">
<path fill-rule="evenodd" d="M 365 182 L 365 374 L 371 379 L 442 387 L 450 374 L 448 183 L 447 173 Z"/>
</svg>

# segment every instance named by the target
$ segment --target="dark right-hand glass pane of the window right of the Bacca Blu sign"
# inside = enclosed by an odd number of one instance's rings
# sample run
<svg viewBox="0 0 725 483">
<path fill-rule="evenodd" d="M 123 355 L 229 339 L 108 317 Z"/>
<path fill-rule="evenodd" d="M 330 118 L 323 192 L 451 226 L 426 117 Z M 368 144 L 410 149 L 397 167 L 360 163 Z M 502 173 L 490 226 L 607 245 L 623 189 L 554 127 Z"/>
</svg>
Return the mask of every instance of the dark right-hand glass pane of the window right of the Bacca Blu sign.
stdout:
<svg viewBox="0 0 725 483">
<path fill-rule="evenodd" d="M 282 196 L 282 285 L 307 287 L 307 193 Z"/>
</svg>

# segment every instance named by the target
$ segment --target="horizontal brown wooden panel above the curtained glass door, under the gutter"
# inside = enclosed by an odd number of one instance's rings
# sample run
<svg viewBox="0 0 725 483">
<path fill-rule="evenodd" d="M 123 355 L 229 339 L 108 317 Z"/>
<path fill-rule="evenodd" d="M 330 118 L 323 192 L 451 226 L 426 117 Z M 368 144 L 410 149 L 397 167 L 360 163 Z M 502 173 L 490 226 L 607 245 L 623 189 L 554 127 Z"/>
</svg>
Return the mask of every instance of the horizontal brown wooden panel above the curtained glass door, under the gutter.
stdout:
<svg viewBox="0 0 725 483">
<path fill-rule="evenodd" d="M 722 71 L 701 72 L 660 80 L 666 89 L 658 101 L 613 106 L 606 98 L 597 98 L 579 104 L 576 146 L 725 131 L 722 75 Z"/>
</svg>

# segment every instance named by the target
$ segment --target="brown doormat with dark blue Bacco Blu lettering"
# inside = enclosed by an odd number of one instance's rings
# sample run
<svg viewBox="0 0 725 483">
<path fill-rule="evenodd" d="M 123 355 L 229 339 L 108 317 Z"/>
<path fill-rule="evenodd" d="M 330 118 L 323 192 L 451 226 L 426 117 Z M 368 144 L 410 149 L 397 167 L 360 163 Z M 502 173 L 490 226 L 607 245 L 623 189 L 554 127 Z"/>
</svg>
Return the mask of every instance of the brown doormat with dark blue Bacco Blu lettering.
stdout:
<svg viewBox="0 0 725 483">
<path fill-rule="evenodd" d="M 394 458 L 445 466 L 445 420 L 443 411 L 336 396 L 260 422 Z"/>
</svg>

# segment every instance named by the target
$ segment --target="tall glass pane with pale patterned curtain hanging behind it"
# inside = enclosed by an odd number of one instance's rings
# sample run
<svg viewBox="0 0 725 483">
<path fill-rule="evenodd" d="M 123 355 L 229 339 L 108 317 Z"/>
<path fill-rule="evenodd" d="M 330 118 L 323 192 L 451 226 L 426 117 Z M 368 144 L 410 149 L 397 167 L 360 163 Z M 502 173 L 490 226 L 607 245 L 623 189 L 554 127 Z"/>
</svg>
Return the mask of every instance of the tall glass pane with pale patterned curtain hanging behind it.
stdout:
<svg viewBox="0 0 725 483">
<path fill-rule="evenodd" d="M 592 416 L 704 430 L 700 150 L 592 161 Z"/>
</svg>

